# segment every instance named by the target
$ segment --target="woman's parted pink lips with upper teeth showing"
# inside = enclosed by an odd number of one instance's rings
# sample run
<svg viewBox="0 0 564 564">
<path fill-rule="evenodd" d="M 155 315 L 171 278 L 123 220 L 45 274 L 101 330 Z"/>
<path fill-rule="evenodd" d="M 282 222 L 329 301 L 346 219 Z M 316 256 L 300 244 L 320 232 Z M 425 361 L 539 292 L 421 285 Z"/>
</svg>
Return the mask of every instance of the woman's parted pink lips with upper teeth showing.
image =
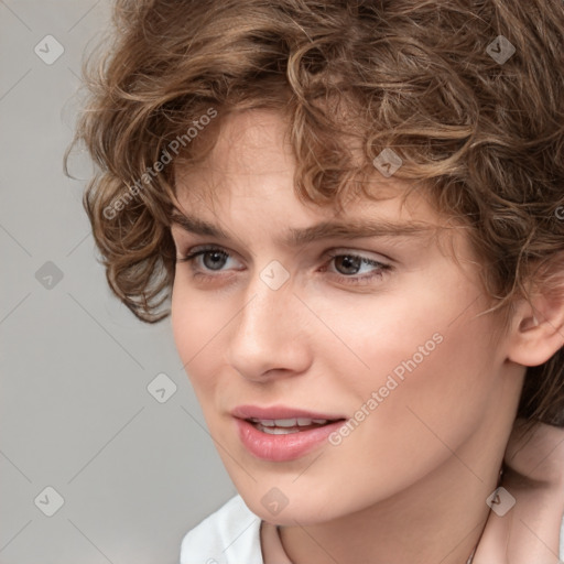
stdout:
<svg viewBox="0 0 564 564">
<path fill-rule="evenodd" d="M 319 447 L 346 417 L 295 408 L 241 405 L 231 414 L 239 438 L 256 457 L 270 462 L 300 458 Z"/>
</svg>

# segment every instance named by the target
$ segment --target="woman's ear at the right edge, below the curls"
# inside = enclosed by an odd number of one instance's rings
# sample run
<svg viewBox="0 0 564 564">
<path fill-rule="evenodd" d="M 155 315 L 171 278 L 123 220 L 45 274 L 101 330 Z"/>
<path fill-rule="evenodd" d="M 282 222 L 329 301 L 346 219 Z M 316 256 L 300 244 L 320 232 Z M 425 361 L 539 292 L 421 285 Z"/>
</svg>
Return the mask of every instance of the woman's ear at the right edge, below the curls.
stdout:
<svg viewBox="0 0 564 564">
<path fill-rule="evenodd" d="M 564 269 L 553 267 L 558 271 L 514 307 L 508 359 L 522 366 L 540 366 L 564 346 Z"/>
</svg>

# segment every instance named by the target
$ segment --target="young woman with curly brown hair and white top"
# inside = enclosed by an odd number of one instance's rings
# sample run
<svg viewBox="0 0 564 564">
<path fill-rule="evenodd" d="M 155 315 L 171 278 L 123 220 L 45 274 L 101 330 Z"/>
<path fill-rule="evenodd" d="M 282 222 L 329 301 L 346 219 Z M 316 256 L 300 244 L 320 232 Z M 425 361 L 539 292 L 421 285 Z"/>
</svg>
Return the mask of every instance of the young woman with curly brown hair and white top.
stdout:
<svg viewBox="0 0 564 564">
<path fill-rule="evenodd" d="M 116 15 L 85 206 L 240 494 L 182 563 L 558 562 L 562 4 Z"/>
</svg>

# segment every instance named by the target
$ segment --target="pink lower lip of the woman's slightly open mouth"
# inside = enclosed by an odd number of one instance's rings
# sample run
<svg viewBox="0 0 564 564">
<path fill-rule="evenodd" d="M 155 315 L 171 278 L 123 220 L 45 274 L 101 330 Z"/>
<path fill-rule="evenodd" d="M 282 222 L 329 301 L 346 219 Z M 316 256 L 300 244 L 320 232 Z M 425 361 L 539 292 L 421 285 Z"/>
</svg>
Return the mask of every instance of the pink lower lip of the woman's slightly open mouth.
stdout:
<svg viewBox="0 0 564 564">
<path fill-rule="evenodd" d="M 286 435 L 270 435 L 256 429 L 251 423 L 235 417 L 239 437 L 245 447 L 258 458 L 274 463 L 295 460 L 322 443 L 337 429 L 345 424 L 345 421 L 335 421 L 321 427 Z"/>
</svg>

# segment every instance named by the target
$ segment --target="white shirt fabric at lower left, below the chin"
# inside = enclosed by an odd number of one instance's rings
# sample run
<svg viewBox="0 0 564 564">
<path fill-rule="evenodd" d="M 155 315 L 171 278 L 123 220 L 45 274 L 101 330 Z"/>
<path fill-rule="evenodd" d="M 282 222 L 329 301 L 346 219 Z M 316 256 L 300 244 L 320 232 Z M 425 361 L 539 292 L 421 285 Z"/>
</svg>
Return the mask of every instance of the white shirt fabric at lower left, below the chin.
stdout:
<svg viewBox="0 0 564 564">
<path fill-rule="evenodd" d="M 235 496 L 188 531 L 181 564 L 263 564 L 258 516 Z"/>
</svg>

